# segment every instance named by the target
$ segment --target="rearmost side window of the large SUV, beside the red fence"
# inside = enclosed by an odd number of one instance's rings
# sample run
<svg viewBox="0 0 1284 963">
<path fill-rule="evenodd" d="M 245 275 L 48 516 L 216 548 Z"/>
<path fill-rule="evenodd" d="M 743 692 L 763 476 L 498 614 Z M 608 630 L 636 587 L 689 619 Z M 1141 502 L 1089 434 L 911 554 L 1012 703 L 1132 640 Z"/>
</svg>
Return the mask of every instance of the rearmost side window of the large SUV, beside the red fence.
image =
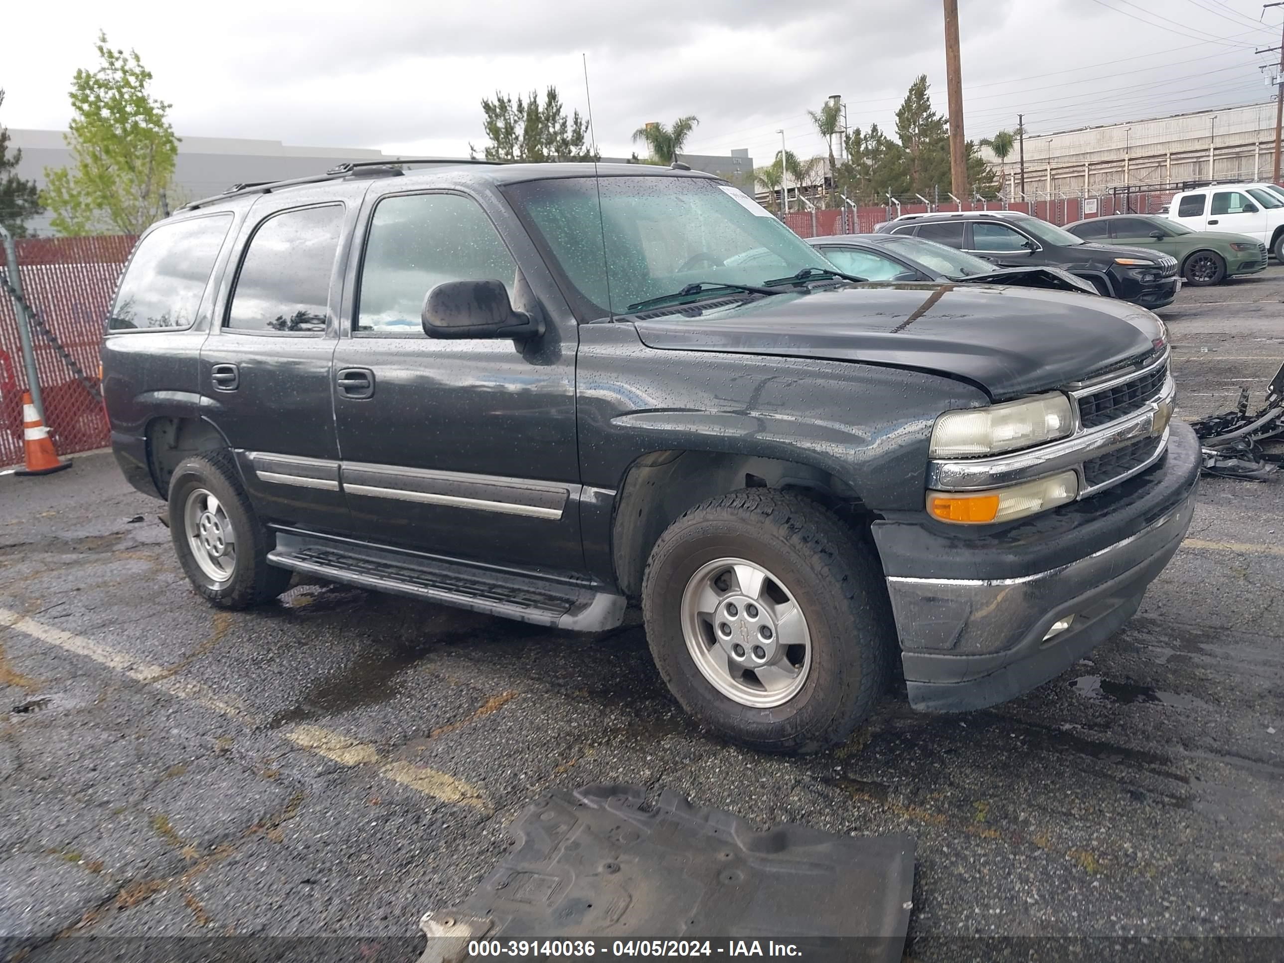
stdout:
<svg viewBox="0 0 1284 963">
<path fill-rule="evenodd" d="M 107 330 L 191 327 L 231 222 L 230 213 L 195 217 L 144 238 L 121 279 Z"/>
</svg>

